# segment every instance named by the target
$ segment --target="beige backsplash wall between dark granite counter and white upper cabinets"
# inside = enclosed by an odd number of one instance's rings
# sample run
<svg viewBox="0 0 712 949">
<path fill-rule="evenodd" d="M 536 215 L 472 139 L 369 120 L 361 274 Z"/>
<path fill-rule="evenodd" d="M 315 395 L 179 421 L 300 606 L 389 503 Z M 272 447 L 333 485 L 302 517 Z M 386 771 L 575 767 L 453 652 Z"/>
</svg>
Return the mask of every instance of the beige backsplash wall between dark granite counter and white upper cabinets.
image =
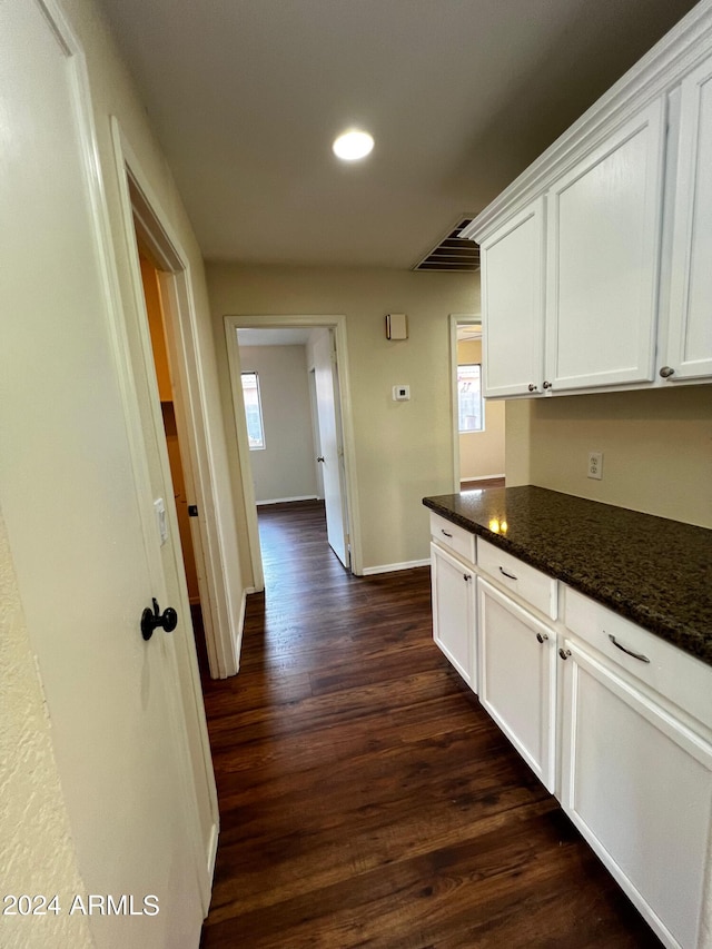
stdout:
<svg viewBox="0 0 712 949">
<path fill-rule="evenodd" d="M 712 386 L 510 403 L 507 484 L 527 482 L 712 527 Z"/>
</svg>

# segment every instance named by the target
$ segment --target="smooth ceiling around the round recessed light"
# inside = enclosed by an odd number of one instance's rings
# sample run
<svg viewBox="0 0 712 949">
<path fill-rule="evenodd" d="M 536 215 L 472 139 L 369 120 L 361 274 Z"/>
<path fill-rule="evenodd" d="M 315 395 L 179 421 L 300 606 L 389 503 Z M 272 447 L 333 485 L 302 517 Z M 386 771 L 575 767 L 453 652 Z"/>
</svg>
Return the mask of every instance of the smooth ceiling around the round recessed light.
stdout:
<svg viewBox="0 0 712 949">
<path fill-rule="evenodd" d="M 691 0 L 99 0 L 202 253 L 412 268 Z M 344 164 L 343 129 L 376 139 Z"/>
</svg>

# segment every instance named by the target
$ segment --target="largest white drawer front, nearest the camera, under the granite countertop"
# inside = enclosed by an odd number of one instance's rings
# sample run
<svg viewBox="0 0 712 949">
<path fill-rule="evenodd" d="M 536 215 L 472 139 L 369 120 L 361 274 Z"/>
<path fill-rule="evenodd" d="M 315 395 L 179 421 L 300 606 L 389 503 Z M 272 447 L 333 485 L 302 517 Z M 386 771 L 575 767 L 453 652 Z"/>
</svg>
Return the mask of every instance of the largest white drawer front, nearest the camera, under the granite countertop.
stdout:
<svg viewBox="0 0 712 949">
<path fill-rule="evenodd" d="M 712 666 L 575 590 L 564 601 L 572 633 L 712 729 Z"/>
</svg>

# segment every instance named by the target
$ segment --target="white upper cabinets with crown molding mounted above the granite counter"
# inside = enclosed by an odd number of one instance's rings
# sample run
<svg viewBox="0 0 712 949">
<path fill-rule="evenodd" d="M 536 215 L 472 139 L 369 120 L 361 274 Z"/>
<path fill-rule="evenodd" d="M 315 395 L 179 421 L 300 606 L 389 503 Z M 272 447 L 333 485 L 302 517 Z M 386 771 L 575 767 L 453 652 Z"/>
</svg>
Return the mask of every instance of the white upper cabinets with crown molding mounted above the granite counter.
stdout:
<svg viewBox="0 0 712 949">
<path fill-rule="evenodd" d="M 712 0 L 463 231 L 485 395 L 712 382 Z"/>
</svg>

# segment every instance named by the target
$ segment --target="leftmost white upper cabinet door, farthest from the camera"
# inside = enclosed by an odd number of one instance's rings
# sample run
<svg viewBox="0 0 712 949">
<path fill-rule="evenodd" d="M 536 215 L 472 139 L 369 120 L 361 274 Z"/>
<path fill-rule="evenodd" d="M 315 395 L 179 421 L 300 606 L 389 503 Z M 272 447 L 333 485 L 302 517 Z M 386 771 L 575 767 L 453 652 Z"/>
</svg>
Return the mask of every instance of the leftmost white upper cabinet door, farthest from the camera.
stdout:
<svg viewBox="0 0 712 949">
<path fill-rule="evenodd" d="M 485 396 L 541 392 L 544 356 L 544 199 L 483 241 Z"/>
</svg>

